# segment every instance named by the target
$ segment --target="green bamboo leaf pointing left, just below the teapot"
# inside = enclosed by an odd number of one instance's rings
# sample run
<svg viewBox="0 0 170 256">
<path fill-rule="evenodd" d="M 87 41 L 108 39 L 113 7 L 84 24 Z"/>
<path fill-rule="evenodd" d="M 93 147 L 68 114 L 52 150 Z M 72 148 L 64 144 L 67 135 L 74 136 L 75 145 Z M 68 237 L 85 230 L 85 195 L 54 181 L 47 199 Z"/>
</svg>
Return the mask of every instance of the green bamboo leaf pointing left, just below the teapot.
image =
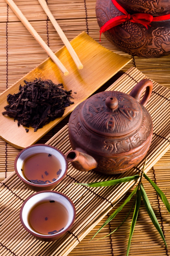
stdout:
<svg viewBox="0 0 170 256">
<path fill-rule="evenodd" d="M 129 177 L 124 177 L 121 179 L 112 179 L 112 180 L 107 180 L 107 181 L 99 181 L 99 182 L 91 182 L 91 183 L 74 183 L 74 184 L 79 184 L 79 185 L 85 185 L 89 187 L 107 187 L 107 186 L 113 186 L 122 182 L 129 182 L 131 180 L 138 179 L 140 176 L 134 175 L 134 176 L 129 176 Z"/>
</svg>

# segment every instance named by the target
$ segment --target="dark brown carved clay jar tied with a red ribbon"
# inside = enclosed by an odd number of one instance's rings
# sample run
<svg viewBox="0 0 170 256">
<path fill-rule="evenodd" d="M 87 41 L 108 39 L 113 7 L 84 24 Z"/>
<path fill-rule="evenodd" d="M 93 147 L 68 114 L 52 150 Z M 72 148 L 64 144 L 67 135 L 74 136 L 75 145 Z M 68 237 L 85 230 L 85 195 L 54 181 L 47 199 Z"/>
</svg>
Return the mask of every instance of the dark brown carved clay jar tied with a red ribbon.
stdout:
<svg viewBox="0 0 170 256">
<path fill-rule="evenodd" d="M 129 14 L 148 13 L 152 16 L 170 14 L 170 0 L 116 0 Z M 108 20 L 124 15 L 111 0 L 96 1 L 99 27 Z M 104 32 L 117 48 L 134 56 L 158 58 L 170 54 L 170 20 L 152 21 L 148 29 L 139 23 L 126 21 Z"/>
</svg>

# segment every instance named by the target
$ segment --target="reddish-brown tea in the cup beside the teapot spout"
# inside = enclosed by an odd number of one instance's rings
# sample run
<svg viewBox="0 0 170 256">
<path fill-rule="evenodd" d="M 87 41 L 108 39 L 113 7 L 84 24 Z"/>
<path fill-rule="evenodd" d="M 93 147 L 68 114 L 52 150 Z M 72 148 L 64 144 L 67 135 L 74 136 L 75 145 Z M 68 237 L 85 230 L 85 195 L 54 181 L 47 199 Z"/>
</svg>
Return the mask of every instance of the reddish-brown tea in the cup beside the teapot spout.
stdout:
<svg viewBox="0 0 170 256">
<path fill-rule="evenodd" d="M 48 153 L 36 153 L 25 159 L 21 169 L 25 178 L 36 184 L 54 182 L 61 173 L 61 163 Z"/>
</svg>

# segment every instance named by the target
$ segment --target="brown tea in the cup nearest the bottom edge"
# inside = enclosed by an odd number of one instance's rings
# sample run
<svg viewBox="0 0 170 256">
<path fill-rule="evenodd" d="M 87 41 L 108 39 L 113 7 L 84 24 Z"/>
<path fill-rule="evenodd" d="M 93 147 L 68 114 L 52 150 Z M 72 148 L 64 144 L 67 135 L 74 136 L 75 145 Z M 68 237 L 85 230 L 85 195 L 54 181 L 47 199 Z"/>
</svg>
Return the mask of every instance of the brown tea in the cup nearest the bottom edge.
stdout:
<svg viewBox="0 0 170 256">
<path fill-rule="evenodd" d="M 67 224 L 69 215 L 63 205 L 55 201 L 36 204 L 29 215 L 29 222 L 37 233 L 50 235 L 61 231 Z"/>
</svg>

